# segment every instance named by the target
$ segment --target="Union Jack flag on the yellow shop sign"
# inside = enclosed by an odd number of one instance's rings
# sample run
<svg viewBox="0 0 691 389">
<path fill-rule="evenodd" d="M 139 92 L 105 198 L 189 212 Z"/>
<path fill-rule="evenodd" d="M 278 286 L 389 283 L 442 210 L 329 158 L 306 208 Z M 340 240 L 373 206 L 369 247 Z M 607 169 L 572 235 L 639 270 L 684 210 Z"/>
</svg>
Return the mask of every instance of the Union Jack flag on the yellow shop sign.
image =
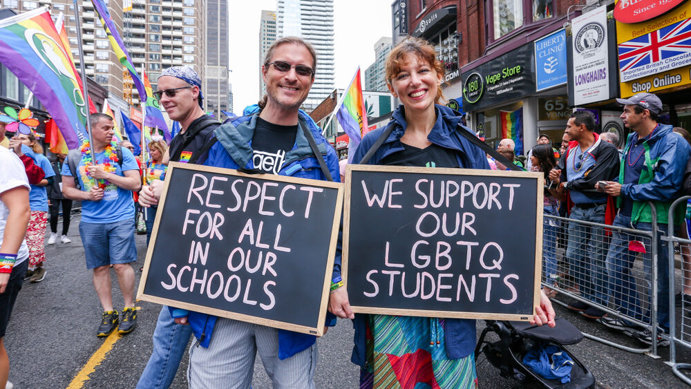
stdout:
<svg viewBox="0 0 691 389">
<path fill-rule="evenodd" d="M 691 19 L 619 44 L 618 54 L 622 82 L 691 64 Z"/>
</svg>

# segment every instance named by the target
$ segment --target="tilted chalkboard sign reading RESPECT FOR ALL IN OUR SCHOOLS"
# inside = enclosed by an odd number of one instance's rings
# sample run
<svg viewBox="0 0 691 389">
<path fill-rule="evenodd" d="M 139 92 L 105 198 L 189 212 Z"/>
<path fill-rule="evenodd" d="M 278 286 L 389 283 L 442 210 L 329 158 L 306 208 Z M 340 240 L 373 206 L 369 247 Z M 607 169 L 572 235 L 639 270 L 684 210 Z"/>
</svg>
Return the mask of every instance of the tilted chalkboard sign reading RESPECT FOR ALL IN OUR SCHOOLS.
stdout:
<svg viewBox="0 0 691 389">
<path fill-rule="evenodd" d="M 323 334 L 343 185 L 171 163 L 138 298 Z"/>
</svg>

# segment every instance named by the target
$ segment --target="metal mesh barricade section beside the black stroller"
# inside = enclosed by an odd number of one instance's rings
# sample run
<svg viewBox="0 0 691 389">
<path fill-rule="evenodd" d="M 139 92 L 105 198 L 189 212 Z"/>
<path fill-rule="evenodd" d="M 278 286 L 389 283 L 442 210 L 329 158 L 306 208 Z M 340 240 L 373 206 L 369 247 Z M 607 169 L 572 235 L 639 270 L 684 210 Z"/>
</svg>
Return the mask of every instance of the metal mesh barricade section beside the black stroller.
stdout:
<svg viewBox="0 0 691 389">
<path fill-rule="evenodd" d="M 631 348 L 584 333 L 584 336 L 587 338 L 628 352 L 645 353 L 650 355 L 650 357 L 659 358 L 657 354 L 658 287 L 656 282 L 654 282 L 658 278 L 658 236 L 653 232 L 657 230 L 655 207 L 652 203 L 650 204 L 652 206 L 652 231 L 545 215 L 542 239 L 542 285 L 558 292 L 557 297 L 568 296 L 575 301 L 580 301 L 606 312 L 610 318 L 619 317 L 641 327 L 641 329 L 650 330 L 652 332 L 652 345 L 646 348 Z M 555 227 L 554 224 L 557 223 L 560 223 L 565 228 L 566 234 L 560 236 L 559 229 L 553 228 Z M 571 234 L 569 234 L 569 225 Z M 614 233 L 624 234 L 622 245 L 612 245 L 611 235 Z M 566 241 L 563 241 L 564 236 L 567 237 Z M 569 240 L 571 240 L 570 249 Z M 639 249 L 641 246 L 645 247 L 646 253 L 636 255 L 630 270 L 624 269 L 625 271 L 621 272 L 621 274 L 608 272 L 607 254 L 609 250 L 619 249 L 623 252 L 623 255 L 634 255 L 630 251 L 630 248 L 632 248 L 629 245 L 630 241 L 643 243 L 643 245 L 634 245 L 633 248 L 635 250 L 636 247 Z M 650 248 L 650 251 L 648 251 L 648 248 Z M 558 278 L 556 279 L 551 278 L 551 274 L 548 274 L 550 269 L 554 269 L 548 263 L 551 260 L 549 258 L 550 255 L 554 256 L 553 260 L 557 264 Z M 618 283 L 617 285 L 621 285 L 617 289 L 616 296 L 620 297 L 617 299 L 617 302 L 622 304 L 628 303 L 630 309 L 626 312 L 636 312 L 637 315 L 635 316 L 639 317 L 635 317 L 632 314 L 627 315 L 617 310 L 618 307 L 615 304 L 614 296 L 610 294 L 612 289 L 609 284 L 610 281 L 615 281 Z M 568 305 L 568 303 L 557 298 L 552 298 L 551 300 L 553 303 L 558 303 L 562 306 Z M 662 336 L 666 339 L 666 335 L 663 334 Z"/>
</svg>

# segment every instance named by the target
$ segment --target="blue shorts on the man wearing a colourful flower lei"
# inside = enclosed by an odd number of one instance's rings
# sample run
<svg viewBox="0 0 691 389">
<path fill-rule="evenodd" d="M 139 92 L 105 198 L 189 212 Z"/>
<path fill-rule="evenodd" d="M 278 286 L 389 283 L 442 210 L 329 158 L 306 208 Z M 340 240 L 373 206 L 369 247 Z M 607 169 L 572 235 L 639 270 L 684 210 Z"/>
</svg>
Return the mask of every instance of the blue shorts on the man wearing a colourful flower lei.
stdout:
<svg viewBox="0 0 691 389">
<path fill-rule="evenodd" d="M 86 268 L 131 263 L 137 260 L 134 218 L 112 223 L 79 222 Z"/>
</svg>

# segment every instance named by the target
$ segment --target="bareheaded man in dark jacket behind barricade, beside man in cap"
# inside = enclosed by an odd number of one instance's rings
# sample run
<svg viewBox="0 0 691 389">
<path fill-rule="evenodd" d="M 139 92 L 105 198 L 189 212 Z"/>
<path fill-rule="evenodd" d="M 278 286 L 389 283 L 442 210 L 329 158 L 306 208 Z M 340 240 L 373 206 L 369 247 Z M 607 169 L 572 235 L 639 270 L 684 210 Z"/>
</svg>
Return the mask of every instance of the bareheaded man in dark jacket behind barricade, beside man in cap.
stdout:
<svg viewBox="0 0 691 389">
<path fill-rule="evenodd" d="M 569 273 L 583 298 L 596 305 L 607 305 L 607 272 L 605 255 L 607 241 L 603 227 L 591 227 L 581 221 L 605 224 L 607 195 L 596 191 L 598 181 L 612 180 L 619 171 L 619 152 L 614 144 L 603 142 L 597 133 L 595 118 L 588 111 L 576 111 L 567 122 L 571 141 L 549 179 L 558 184 L 558 191 L 567 191 L 570 214 L 566 258 Z M 594 305 L 573 301 L 569 309 L 591 319 L 605 312 Z"/>
</svg>

